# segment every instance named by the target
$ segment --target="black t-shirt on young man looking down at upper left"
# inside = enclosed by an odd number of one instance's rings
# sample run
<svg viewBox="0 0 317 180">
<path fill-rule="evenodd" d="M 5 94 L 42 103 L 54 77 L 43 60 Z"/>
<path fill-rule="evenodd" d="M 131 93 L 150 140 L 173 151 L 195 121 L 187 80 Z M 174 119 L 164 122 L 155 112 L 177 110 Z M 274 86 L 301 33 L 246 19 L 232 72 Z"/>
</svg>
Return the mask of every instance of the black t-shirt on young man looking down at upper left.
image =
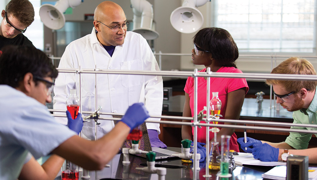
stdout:
<svg viewBox="0 0 317 180">
<path fill-rule="evenodd" d="M 33 46 L 32 42 L 25 37 L 23 34 L 18 34 L 14 38 L 5 38 L 0 36 L 0 51 L 7 45 L 22 45 L 22 46 Z"/>
</svg>

